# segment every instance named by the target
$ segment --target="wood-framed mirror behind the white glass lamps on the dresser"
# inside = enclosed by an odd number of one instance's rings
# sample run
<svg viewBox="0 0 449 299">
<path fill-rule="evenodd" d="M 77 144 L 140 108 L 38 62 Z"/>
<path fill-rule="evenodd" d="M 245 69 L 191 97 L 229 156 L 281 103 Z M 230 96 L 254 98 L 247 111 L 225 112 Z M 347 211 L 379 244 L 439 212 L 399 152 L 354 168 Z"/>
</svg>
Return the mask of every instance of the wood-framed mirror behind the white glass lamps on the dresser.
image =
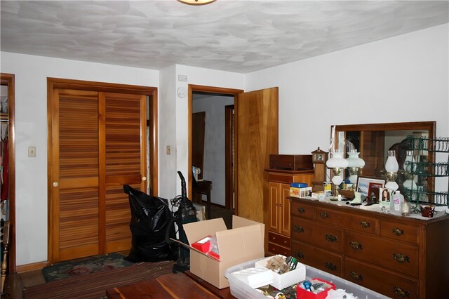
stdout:
<svg viewBox="0 0 449 299">
<path fill-rule="evenodd" d="M 365 161 L 365 166 L 359 171 L 358 176 L 368 178 L 385 179 L 382 171 L 385 169 L 388 151 L 396 151 L 396 159 L 399 169 L 403 169 L 403 161 L 406 159 L 406 138 L 408 135 L 417 137 L 435 138 L 436 121 L 419 121 L 406 123 L 387 124 L 351 124 L 335 126 L 335 143 L 338 150 L 346 153 L 355 149 L 360 152 L 360 157 Z M 342 150 L 344 149 L 344 150 Z M 423 152 L 422 161 L 433 163 L 434 152 Z M 348 173 L 345 174 L 347 178 Z M 401 179 L 398 177 L 399 190 Z M 434 178 L 419 178 L 419 185 L 427 187 L 428 191 L 434 191 Z"/>
</svg>

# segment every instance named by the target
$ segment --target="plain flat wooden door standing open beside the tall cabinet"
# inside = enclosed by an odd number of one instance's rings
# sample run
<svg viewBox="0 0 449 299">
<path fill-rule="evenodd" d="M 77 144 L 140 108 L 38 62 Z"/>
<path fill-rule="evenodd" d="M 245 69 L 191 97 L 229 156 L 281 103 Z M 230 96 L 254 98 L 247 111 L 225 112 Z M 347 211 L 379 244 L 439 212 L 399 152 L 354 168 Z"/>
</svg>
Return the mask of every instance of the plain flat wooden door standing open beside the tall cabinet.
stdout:
<svg viewBox="0 0 449 299">
<path fill-rule="evenodd" d="M 239 93 L 236 114 L 236 214 L 264 222 L 264 191 L 268 192 L 264 169 L 269 154 L 278 153 L 279 88 Z"/>
</svg>

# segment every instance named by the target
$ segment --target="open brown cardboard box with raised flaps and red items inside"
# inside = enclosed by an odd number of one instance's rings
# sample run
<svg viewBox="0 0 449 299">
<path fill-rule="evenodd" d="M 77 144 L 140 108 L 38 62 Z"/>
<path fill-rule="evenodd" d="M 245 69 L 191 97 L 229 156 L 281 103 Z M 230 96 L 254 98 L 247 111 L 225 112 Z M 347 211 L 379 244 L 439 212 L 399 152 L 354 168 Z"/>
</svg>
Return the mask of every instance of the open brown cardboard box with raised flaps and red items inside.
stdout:
<svg viewBox="0 0 449 299">
<path fill-rule="evenodd" d="M 190 272 L 217 288 L 227 288 L 225 271 L 248 260 L 264 257 L 264 224 L 232 216 L 232 230 L 227 230 L 222 218 L 192 222 L 183 225 L 189 243 L 205 236 L 217 237 L 220 261 L 188 246 Z"/>
</svg>

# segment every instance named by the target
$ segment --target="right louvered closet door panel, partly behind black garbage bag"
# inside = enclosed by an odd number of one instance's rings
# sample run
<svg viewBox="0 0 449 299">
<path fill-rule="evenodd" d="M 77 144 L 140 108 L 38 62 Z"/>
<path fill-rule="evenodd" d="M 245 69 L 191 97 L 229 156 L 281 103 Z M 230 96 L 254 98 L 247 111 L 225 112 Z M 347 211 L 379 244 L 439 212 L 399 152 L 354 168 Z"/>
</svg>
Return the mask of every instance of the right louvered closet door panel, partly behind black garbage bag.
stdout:
<svg viewBox="0 0 449 299">
<path fill-rule="evenodd" d="M 105 250 L 130 248 L 130 208 L 123 185 L 145 192 L 146 186 L 146 96 L 100 93 L 104 107 L 100 140 L 105 143 L 105 163 L 100 163 L 100 185 L 105 184 Z M 104 132 L 104 134 L 103 134 Z"/>
</svg>

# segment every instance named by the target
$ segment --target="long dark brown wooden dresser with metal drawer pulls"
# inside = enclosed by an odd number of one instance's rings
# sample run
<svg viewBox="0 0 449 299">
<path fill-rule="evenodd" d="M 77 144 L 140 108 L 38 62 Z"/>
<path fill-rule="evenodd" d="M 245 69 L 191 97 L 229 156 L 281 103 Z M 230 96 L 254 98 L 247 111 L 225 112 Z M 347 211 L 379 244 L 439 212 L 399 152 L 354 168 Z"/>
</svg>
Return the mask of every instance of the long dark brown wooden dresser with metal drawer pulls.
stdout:
<svg viewBox="0 0 449 299">
<path fill-rule="evenodd" d="M 448 298 L 449 215 L 420 220 L 290 197 L 291 253 L 391 298 Z"/>
</svg>

